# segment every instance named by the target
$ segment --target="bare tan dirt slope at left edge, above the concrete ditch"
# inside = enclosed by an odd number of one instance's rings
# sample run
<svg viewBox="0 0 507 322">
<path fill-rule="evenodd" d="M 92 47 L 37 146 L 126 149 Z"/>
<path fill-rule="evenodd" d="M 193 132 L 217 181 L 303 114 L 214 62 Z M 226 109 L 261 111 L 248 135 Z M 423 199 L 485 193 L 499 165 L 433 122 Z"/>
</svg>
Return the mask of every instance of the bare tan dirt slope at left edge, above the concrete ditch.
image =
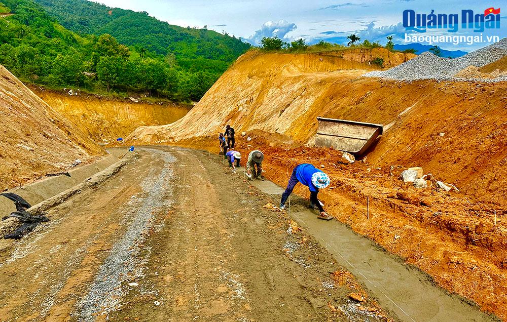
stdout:
<svg viewBox="0 0 507 322">
<path fill-rule="evenodd" d="M 105 151 L 0 65 L 0 191 Z"/>
</svg>

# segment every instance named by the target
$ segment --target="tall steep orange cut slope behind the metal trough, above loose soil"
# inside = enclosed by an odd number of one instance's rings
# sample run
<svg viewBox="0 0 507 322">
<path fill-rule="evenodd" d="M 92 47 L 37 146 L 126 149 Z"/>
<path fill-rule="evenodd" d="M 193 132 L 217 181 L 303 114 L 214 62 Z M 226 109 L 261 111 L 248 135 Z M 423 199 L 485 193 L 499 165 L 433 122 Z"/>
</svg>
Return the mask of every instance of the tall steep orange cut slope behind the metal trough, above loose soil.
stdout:
<svg viewBox="0 0 507 322">
<path fill-rule="evenodd" d="M 378 51 L 390 66 L 410 58 Z M 386 131 L 368 156 L 373 165 L 422 166 L 474 196 L 502 203 L 491 191 L 507 192 L 497 180 L 505 176 L 507 130 L 495 116 L 504 112 L 507 87 L 361 77 L 374 68 L 367 57 L 380 53 L 249 52 L 186 117 L 139 128 L 131 137 L 143 143 L 176 142 L 213 136 L 231 124 L 236 132 L 257 129 L 311 144 L 319 115 L 378 123 Z"/>
</svg>

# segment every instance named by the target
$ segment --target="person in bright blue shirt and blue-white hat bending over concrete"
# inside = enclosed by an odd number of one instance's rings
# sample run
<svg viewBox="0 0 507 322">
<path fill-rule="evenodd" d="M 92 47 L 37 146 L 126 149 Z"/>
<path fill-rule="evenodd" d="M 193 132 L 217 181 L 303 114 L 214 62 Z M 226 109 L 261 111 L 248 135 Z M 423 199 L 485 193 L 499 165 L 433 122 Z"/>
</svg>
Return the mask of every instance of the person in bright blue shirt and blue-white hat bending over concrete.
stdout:
<svg viewBox="0 0 507 322">
<path fill-rule="evenodd" d="M 280 209 L 285 209 L 285 202 L 298 182 L 310 188 L 310 208 L 313 209 L 314 206 L 318 208 L 320 212 L 318 218 L 325 220 L 333 218 L 324 211 L 322 203 L 317 198 L 318 190 L 329 186 L 331 179 L 327 174 L 307 163 L 294 168 L 291 178 L 288 180 L 287 188 L 282 194 Z"/>
</svg>

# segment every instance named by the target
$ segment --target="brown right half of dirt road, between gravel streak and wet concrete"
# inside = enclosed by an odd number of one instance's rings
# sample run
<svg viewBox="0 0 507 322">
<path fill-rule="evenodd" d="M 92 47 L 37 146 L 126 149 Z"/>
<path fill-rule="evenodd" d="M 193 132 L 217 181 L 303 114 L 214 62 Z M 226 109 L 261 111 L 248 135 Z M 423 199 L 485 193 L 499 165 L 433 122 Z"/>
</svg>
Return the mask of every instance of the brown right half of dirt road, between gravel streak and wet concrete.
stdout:
<svg viewBox="0 0 507 322">
<path fill-rule="evenodd" d="M 178 158 L 173 209 L 147 240 L 146 277 L 135 280 L 111 319 L 387 319 L 371 300 L 351 302 L 348 294 L 361 292 L 359 285 L 336 284 L 332 273 L 340 267 L 332 256 L 263 208 L 267 196 L 249 190 L 216 156 L 159 148 Z"/>
</svg>

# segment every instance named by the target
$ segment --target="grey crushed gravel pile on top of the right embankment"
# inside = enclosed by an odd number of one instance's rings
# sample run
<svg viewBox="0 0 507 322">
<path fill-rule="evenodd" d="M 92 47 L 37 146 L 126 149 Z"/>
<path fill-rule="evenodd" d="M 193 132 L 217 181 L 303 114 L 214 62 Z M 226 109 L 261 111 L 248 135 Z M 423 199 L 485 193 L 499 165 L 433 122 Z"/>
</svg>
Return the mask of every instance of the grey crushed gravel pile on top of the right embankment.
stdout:
<svg viewBox="0 0 507 322">
<path fill-rule="evenodd" d="M 398 81 L 415 81 L 417 79 L 436 79 L 437 81 L 482 81 L 501 82 L 507 80 L 507 76 L 494 79 L 482 78 L 458 78 L 454 75 L 460 70 L 473 65 L 482 67 L 507 55 L 507 38 L 490 46 L 478 49 L 459 58 L 443 58 L 424 52 L 403 64 L 384 71 L 372 71 L 364 76 L 396 79 Z"/>
</svg>

